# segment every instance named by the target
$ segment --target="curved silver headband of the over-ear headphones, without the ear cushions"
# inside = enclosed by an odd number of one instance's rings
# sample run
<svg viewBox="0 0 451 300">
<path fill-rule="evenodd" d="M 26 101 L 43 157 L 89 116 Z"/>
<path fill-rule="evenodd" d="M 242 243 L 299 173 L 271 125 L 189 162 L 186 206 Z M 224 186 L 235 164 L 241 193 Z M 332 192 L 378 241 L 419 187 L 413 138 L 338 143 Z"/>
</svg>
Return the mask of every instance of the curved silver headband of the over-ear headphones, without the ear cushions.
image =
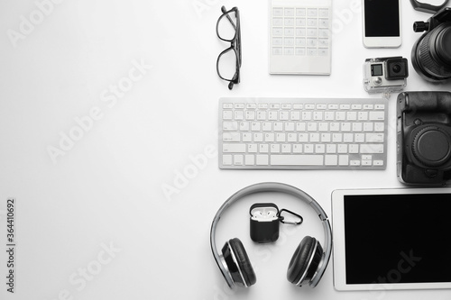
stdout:
<svg viewBox="0 0 451 300">
<path fill-rule="evenodd" d="M 331 253 L 332 253 L 332 229 L 331 229 L 330 223 L 327 219 L 327 214 L 323 210 L 321 205 L 319 205 L 318 202 L 315 201 L 315 199 L 313 199 L 310 195 L 308 195 L 304 191 L 300 190 L 297 187 L 282 184 L 282 183 L 277 183 L 277 182 L 263 182 L 263 183 L 255 184 L 252 186 L 246 186 L 246 187 L 242 188 L 241 190 L 237 191 L 234 195 L 231 195 L 226 200 L 226 202 L 223 205 L 221 205 L 221 207 L 219 207 L 219 210 L 217 211 L 215 218 L 213 219 L 213 222 L 211 224 L 211 229 L 210 229 L 210 247 L 213 252 L 213 256 L 216 260 L 216 264 L 219 267 L 219 269 L 221 270 L 221 273 L 223 274 L 223 276 L 226 278 L 228 286 L 233 287 L 233 286 L 235 286 L 235 283 L 232 280 L 232 278 L 227 275 L 229 273 L 229 271 L 226 267 L 226 262 L 225 262 L 224 258 L 222 258 L 222 256 L 219 255 L 219 253 L 217 252 L 217 249 L 216 249 L 216 226 L 217 226 L 217 223 L 221 219 L 222 214 L 224 214 L 224 212 L 230 205 L 234 204 L 236 201 L 238 201 L 239 199 L 243 198 L 246 195 L 262 193 L 262 192 L 280 192 L 280 193 L 284 193 L 284 194 L 294 195 L 297 198 L 299 198 L 300 200 L 308 203 L 308 205 L 310 205 L 315 210 L 315 212 L 318 214 L 319 220 L 321 220 L 321 222 L 323 223 L 323 228 L 324 228 L 324 232 L 325 232 L 325 243 L 324 243 L 325 248 L 324 248 L 324 252 L 323 252 L 323 257 L 321 259 L 321 263 L 318 266 L 318 270 L 309 284 L 312 287 L 317 286 L 319 280 L 321 279 L 321 277 L 323 276 L 323 274 L 327 268 L 327 263 L 330 259 Z"/>
</svg>

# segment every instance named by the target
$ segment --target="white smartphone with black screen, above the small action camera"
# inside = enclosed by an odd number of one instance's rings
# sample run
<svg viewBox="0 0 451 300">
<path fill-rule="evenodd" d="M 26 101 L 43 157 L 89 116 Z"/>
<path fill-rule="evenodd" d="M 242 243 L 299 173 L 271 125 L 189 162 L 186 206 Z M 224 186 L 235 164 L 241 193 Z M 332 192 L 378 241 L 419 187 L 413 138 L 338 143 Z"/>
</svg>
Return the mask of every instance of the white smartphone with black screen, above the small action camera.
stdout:
<svg viewBox="0 0 451 300">
<path fill-rule="evenodd" d="M 363 0 L 363 4 L 364 46 L 400 47 L 400 0 Z"/>
</svg>

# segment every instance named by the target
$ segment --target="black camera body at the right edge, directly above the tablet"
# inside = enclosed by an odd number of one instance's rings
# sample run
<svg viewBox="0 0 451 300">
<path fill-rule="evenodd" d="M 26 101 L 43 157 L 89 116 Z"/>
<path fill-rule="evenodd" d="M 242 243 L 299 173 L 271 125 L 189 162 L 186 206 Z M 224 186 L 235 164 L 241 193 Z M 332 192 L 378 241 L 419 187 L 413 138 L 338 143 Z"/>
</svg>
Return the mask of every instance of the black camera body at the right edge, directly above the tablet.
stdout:
<svg viewBox="0 0 451 300">
<path fill-rule="evenodd" d="M 400 182 L 451 183 L 451 93 L 405 92 L 397 101 L 397 167 Z"/>
</svg>

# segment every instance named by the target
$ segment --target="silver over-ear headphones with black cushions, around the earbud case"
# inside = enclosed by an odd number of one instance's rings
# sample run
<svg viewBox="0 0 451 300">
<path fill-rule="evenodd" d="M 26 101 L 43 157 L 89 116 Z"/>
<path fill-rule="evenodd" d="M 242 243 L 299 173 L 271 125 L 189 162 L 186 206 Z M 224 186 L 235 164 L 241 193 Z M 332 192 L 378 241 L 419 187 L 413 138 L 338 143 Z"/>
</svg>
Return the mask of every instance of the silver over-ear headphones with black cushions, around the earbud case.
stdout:
<svg viewBox="0 0 451 300">
<path fill-rule="evenodd" d="M 238 239 L 226 241 L 222 248 L 222 254 L 216 250 L 216 226 L 221 215 L 224 214 L 227 207 L 243 198 L 246 195 L 262 193 L 262 192 L 281 192 L 294 195 L 308 205 L 310 205 L 319 216 L 319 220 L 323 223 L 325 232 L 325 245 L 323 250 L 317 239 L 306 236 L 300 241 L 298 248 L 290 260 L 287 271 L 287 278 L 293 285 L 315 287 L 323 276 L 327 268 L 327 263 L 332 253 L 332 230 L 327 220 L 327 214 L 315 199 L 310 195 L 301 191 L 299 188 L 289 186 L 277 182 L 265 182 L 246 186 L 243 189 L 231 195 L 226 202 L 219 208 L 210 230 L 210 246 L 213 257 L 216 260 L 217 267 L 221 270 L 223 277 L 226 279 L 227 285 L 233 288 L 236 284 L 240 286 L 252 286 L 257 280 L 253 267 L 243 243 Z"/>
</svg>

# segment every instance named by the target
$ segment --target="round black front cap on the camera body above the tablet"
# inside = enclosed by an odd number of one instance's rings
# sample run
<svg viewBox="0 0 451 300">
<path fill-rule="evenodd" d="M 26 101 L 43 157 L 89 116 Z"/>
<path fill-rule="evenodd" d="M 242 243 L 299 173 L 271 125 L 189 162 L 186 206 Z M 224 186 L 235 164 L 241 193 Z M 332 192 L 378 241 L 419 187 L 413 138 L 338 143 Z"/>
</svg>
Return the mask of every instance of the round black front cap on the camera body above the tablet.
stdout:
<svg viewBox="0 0 451 300">
<path fill-rule="evenodd" d="M 427 167 L 443 166 L 451 157 L 451 139 L 437 126 L 426 126 L 413 139 L 413 154 Z"/>
</svg>

